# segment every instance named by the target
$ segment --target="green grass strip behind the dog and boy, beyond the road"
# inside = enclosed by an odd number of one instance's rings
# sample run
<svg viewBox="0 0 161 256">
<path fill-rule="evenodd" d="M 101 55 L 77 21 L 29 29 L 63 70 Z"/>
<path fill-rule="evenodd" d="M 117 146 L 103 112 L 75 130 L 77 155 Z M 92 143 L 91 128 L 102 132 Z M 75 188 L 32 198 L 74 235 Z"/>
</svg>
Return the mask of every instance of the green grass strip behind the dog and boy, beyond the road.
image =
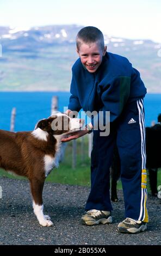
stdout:
<svg viewBox="0 0 161 256">
<path fill-rule="evenodd" d="M 11 179 L 26 179 L 16 176 L 0 169 L 0 177 L 5 176 Z M 88 157 L 88 137 L 84 136 L 84 160 L 81 155 L 81 139 L 77 139 L 77 164 L 76 169 L 72 169 L 72 142 L 69 142 L 63 162 L 59 168 L 54 168 L 48 175 L 47 181 L 61 184 L 90 186 L 90 159 Z M 161 169 L 158 170 L 158 186 L 161 185 Z M 122 189 L 121 181 L 118 181 L 117 189 Z M 147 190 L 150 192 L 150 186 L 147 176 Z"/>
</svg>

